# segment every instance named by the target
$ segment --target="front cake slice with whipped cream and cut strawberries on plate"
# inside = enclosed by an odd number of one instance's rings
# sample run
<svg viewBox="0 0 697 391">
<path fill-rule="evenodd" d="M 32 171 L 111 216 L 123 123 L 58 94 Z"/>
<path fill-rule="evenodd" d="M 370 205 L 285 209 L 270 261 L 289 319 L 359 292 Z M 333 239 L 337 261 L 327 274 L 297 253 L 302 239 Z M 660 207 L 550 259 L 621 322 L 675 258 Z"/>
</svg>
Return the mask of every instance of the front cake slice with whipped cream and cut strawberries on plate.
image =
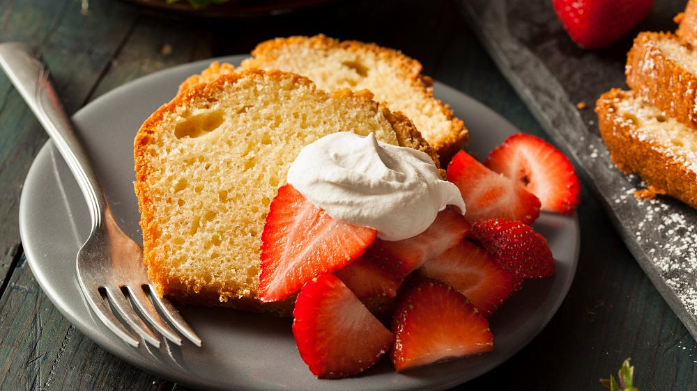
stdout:
<svg viewBox="0 0 697 391">
<path fill-rule="evenodd" d="M 483 164 L 457 152 L 446 172 L 418 127 L 369 90 L 328 92 L 251 63 L 190 77 L 137 133 L 156 293 L 292 312 L 320 378 L 360 374 L 390 351 L 397 372 L 491 351 L 488 317 L 525 279 L 555 273 L 530 224 L 579 204 L 568 159 L 516 134 Z"/>
</svg>

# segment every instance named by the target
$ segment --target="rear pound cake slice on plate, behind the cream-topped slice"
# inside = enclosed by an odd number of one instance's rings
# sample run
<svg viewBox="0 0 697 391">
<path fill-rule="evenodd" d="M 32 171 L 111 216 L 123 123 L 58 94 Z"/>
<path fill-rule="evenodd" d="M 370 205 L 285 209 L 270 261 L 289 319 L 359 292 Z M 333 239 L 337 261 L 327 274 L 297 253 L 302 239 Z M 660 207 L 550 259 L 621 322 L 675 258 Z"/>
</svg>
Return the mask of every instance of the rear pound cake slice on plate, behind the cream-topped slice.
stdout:
<svg viewBox="0 0 697 391">
<path fill-rule="evenodd" d="M 434 98 L 433 80 L 422 75 L 421 64 L 400 51 L 358 41 L 339 42 L 325 35 L 277 38 L 262 42 L 240 69 L 282 70 L 308 77 L 327 91 L 370 90 L 378 102 L 410 118 L 441 157 L 443 166 L 468 141 L 463 122 Z M 229 66 L 229 65 L 227 65 Z M 230 72 L 220 65 L 204 74 Z M 194 75 L 184 88 L 199 78 Z M 203 77 L 205 79 L 205 77 Z M 200 80 L 200 79 L 199 79 Z"/>
</svg>

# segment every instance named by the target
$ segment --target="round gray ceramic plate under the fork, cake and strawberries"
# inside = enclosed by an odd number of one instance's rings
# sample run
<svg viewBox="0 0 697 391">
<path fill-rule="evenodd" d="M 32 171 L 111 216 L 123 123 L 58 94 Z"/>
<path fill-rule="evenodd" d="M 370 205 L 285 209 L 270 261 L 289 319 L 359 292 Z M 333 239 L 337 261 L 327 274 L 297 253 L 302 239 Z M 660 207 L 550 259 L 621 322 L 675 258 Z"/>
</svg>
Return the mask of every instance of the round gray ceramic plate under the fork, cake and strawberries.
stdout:
<svg viewBox="0 0 697 391">
<path fill-rule="evenodd" d="M 238 63 L 240 56 L 223 58 Z M 133 137 L 141 122 L 174 96 L 178 83 L 208 65 L 201 61 L 132 81 L 95 99 L 72 120 L 102 179 L 114 215 L 137 241 L 139 214 L 133 193 Z M 453 88 L 436 83 L 436 96 L 447 102 L 470 129 L 467 148 L 486 154 L 517 131 L 487 107 Z M 571 285 L 579 254 L 576 216 L 542 214 L 535 228 L 548 240 L 557 262 L 553 278 L 528 280 L 523 290 L 491 318 L 496 349 L 395 374 L 388 360 L 362 376 L 317 380 L 302 362 L 291 334 L 291 321 L 229 309 L 181 306 L 201 336 L 201 348 L 164 342 L 160 349 L 133 349 L 95 318 L 75 277 L 75 256 L 89 227 L 84 200 L 52 142 L 40 150 L 24 183 L 20 204 L 22 244 L 31 270 L 59 310 L 91 340 L 148 372 L 197 388 L 245 390 L 404 390 L 449 388 L 464 383 L 513 356 L 551 319 Z"/>
</svg>

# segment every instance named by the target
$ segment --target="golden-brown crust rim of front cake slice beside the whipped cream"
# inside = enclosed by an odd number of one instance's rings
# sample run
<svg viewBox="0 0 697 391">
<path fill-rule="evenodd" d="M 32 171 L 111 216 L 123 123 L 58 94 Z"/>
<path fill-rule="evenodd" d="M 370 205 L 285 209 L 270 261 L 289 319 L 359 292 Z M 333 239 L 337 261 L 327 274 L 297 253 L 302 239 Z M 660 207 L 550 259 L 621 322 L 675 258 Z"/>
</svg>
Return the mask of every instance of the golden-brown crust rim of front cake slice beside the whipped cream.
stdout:
<svg viewBox="0 0 697 391">
<path fill-rule="evenodd" d="M 153 202 L 151 200 L 157 196 L 155 191 L 148 186 L 147 178 L 153 173 L 149 166 L 146 145 L 150 145 L 155 140 L 155 132 L 160 131 L 160 123 L 168 115 L 174 115 L 178 110 L 187 107 L 190 102 L 195 101 L 210 101 L 213 102 L 218 95 L 218 92 L 225 88 L 228 84 L 234 84 L 236 81 L 245 77 L 271 77 L 277 79 L 292 79 L 293 83 L 308 86 L 313 90 L 316 89 L 314 83 L 298 74 L 291 74 L 279 71 L 265 72 L 262 70 L 245 70 L 234 74 L 223 74 L 217 77 L 215 81 L 210 83 L 196 84 L 185 88 L 182 93 L 174 97 L 171 102 L 164 104 L 148 118 L 139 129 L 134 141 L 134 159 L 135 159 L 135 193 L 138 198 L 139 210 L 141 212 L 141 229 L 143 232 L 144 241 L 144 262 L 148 266 L 148 277 L 153 281 L 157 294 L 160 296 L 168 296 L 176 301 L 184 303 L 192 303 L 197 305 L 224 305 L 243 310 L 253 310 L 257 312 L 274 312 L 281 315 L 291 314 L 294 298 L 279 303 L 261 303 L 256 299 L 256 287 L 250 287 L 252 294 L 240 292 L 231 292 L 224 287 L 222 283 L 201 284 L 200 282 L 188 281 L 180 276 L 171 273 L 167 268 L 162 267 L 160 259 L 163 254 L 157 253 L 154 248 L 155 242 L 160 237 L 160 228 L 155 221 Z M 418 130 L 413 126 L 401 113 L 392 113 L 384 105 L 378 104 L 372 100 L 372 93 L 367 90 L 357 93 L 351 90 L 338 90 L 333 93 L 335 99 L 359 99 L 363 103 L 372 106 L 374 112 L 381 111 L 385 118 L 390 122 L 392 129 L 397 134 L 397 140 L 400 145 L 413 147 L 422 150 L 431 156 L 438 165 L 438 155 L 429 146 L 429 144 L 420 136 Z M 441 175 L 444 174 L 440 170 Z"/>
</svg>

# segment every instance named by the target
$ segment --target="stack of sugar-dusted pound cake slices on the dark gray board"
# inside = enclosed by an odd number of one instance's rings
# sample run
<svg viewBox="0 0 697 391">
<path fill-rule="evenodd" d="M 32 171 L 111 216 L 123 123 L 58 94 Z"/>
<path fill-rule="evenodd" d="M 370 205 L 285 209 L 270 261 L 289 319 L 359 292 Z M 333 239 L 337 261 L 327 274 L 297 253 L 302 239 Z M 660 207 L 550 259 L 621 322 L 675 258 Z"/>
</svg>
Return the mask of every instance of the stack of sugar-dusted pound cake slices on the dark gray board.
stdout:
<svg viewBox="0 0 697 391">
<path fill-rule="evenodd" d="M 612 160 L 647 184 L 641 197 L 673 196 L 697 209 L 697 1 L 672 33 L 644 32 L 627 54 L 627 85 L 596 102 Z"/>
</svg>

